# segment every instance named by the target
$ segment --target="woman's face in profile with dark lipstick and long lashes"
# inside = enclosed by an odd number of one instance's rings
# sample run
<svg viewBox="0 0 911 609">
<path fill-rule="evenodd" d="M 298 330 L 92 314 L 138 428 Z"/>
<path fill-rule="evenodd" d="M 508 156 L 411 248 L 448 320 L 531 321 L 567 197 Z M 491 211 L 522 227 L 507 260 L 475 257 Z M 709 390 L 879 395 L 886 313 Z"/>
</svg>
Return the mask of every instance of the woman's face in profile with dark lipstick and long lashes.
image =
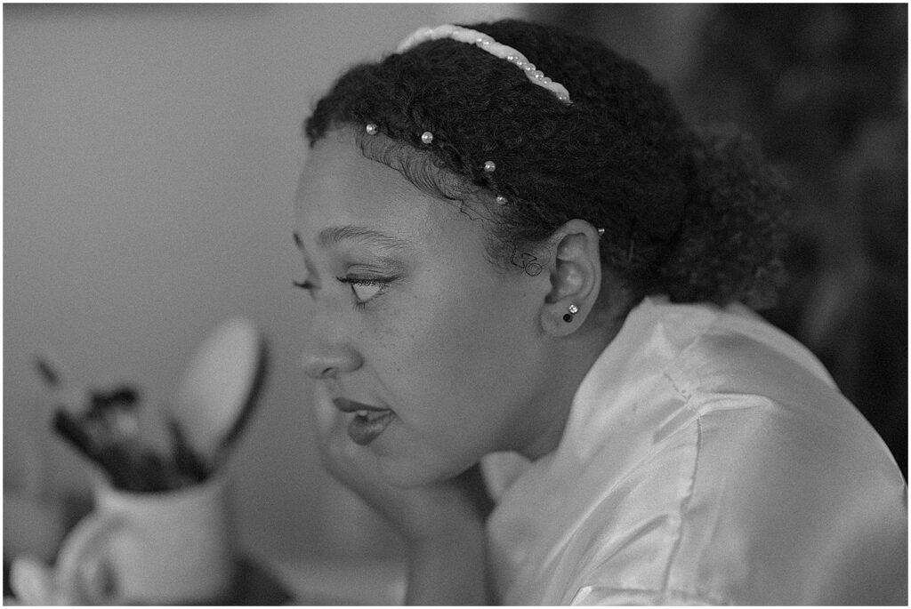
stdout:
<svg viewBox="0 0 911 609">
<path fill-rule="evenodd" d="M 344 415 L 349 435 L 389 482 L 443 480 L 552 433 L 548 279 L 485 259 L 482 221 L 333 133 L 303 169 L 295 225 L 307 373 L 362 411 Z"/>
</svg>

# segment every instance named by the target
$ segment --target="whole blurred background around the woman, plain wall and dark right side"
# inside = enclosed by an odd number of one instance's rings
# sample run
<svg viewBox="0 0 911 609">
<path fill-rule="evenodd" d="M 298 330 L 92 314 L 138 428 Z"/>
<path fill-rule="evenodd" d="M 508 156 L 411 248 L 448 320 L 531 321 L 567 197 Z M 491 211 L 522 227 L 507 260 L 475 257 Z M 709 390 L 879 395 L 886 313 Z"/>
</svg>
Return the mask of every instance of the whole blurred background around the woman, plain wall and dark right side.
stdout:
<svg viewBox="0 0 911 609">
<path fill-rule="evenodd" d="M 906 5 L 4 5 L 4 489 L 86 501 L 33 367 L 167 403 L 221 320 L 271 371 L 230 462 L 241 544 L 389 555 L 322 473 L 292 290 L 302 120 L 346 66 L 420 25 L 519 16 L 649 67 L 694 122 L 741 125 L 793 185 L 792 282 L 768 319 L 802 340 L 907 467 Z M 7 533 L 5 557 L 16 548 Z"/>
</svg>

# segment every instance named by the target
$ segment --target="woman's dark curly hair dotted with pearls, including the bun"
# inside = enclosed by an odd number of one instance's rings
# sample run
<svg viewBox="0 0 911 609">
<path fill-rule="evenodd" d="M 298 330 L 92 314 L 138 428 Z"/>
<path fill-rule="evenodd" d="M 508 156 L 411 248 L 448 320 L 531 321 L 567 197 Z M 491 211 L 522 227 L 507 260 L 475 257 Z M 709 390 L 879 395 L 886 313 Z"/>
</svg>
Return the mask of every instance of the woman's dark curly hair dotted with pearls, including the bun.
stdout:
<svg viewBox="0 0 911 609">
<path fill-rule="evenodd" d="M 640 297 L 773 304 L 785 190 L 746 138 L 697 134 L 644 68 L 597 41 L 517 20 L 466 27 L 516 48 L 572 103 L 474 45 L 433 40 L 348 70 L 305 123 L 311 146 L 352 128 L 366 156 L 486 218 L 487 254 L 505 265 L 581 218 L 605 229 L 603 264 Z"/>
</svg>

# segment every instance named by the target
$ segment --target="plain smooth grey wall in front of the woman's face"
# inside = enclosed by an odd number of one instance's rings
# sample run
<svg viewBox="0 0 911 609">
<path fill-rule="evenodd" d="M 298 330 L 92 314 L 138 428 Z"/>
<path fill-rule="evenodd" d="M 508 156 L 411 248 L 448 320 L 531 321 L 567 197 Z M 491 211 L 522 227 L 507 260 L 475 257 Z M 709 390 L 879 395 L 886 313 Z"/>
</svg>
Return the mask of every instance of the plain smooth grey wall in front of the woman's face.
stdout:
<svg viewBox="0 0 911 609">
<path fill-rule="evenodd" d="M 48 496 L 87 489 L 50 431 L 36 350 L 54 348 L 77 380 L 137 382 L 151 414 L 207 332 L 242 314 L 271 347 L 230 463 L 242 543 L 281 558 L 380 551 L 388 535 L 322 473 L 303 398 L 302 119 L 343 67 L 420 25 L 522 11 L 5 5 L 5 487 L 38 459 Z"/>
</svg>

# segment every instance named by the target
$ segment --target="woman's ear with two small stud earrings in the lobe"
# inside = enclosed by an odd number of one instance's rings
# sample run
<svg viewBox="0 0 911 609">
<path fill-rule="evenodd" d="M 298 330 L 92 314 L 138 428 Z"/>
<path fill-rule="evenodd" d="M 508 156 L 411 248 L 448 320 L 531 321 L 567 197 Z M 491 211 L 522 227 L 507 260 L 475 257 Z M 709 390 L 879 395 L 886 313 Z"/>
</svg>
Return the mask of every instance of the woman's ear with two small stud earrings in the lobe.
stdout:
<svg viewBox="0 0 911 609">
<path fill-rule="evenodd" d="M 589 317 L 601 290 L 598 229 L 572 219 L 554 235 L 550 291 L 541 307 L 541 327 L 550 336 L 568 336 Z"/>
</svg>

